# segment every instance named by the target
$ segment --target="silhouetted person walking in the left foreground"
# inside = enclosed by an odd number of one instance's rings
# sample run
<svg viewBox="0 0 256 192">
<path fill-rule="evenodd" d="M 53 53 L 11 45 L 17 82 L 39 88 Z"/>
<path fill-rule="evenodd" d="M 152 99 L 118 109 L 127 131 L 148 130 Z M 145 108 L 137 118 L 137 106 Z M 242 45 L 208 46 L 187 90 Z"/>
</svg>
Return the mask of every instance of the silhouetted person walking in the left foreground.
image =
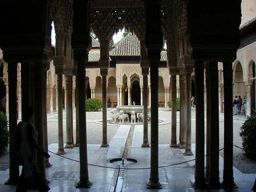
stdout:
<svg viewBox="0 0 256 192">
<path fill-rule="evenodd" d="M 38 131 L 30 122 L 33 114 L 34 109 L 32 107 L 26 108 L 22 114 L 23 120 L 17 126 L 17 159 L 22 165 L 22 174 L 19 176 L 16 192 L 27 191 L 32 183 L 35 183 L 40 192 L 50 190 L 37 165 L 38 152 L 46 158 L 49 158 L 49 155 L 38 146 Z"/>
</svg>

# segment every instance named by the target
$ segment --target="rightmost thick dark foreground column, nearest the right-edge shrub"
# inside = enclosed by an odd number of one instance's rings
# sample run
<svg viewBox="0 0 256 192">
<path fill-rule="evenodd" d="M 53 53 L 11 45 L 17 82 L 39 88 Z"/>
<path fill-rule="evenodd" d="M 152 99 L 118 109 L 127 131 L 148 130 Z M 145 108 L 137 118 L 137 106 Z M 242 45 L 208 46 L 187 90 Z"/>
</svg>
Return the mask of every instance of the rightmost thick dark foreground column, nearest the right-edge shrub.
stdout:
<svg viewBox="0 0 256 192">
<path fill-rule="evenodd" d="M 224 169 L 222 186 L 236 186 L 233 177 L 233 70 L 232 62 L 223 63 L 224 75 Z"/>
</svg>

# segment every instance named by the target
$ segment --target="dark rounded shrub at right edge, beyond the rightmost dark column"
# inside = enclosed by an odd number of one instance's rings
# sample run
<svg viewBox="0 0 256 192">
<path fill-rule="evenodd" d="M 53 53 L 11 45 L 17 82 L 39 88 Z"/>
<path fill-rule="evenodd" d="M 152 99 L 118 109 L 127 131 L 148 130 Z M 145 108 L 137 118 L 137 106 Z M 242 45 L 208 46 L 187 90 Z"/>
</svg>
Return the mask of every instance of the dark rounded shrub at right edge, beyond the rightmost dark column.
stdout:
<svg viewBox="0 0 256 192">
<path fill-rule="evenodd" d="M 245 123 L 242 124 L 240 136 L 242 137 L 242 146 L 246 156 L 256 158 L 256 114 L 248 116 Z M 254 153 L 250 153 L 254 152 Z"/>
</svg>

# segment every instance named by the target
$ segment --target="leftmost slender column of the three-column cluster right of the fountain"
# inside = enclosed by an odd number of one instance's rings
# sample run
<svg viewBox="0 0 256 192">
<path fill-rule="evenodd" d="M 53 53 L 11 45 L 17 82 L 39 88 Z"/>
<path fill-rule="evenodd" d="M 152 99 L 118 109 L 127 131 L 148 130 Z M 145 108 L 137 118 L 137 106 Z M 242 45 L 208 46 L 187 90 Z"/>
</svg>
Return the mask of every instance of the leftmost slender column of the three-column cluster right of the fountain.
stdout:
<svg viewBox="0 0 256 192">
<path fill-rule="evenodd" d="M 177 145 L 177 108 L 176 108 L 176 97 L 177 97 L 177 89 L 176 89 L 176 74 L 171 74 L 171 88 L 172 88 L 172 100 L 171 100 L 171 144 L 170 147 L 178 147 Z"/>
</svg>

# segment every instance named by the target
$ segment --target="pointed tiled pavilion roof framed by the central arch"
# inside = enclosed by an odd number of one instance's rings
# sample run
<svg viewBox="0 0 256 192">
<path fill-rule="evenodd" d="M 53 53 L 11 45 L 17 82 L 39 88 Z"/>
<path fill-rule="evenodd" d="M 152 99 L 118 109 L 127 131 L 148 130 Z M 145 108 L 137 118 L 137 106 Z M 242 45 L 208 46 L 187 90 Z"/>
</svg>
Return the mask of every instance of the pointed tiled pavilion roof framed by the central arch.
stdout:
<svg viewBox="0 0 256 192">
<path fill-rule="evenodd" d="M 110 56 L 139 56 L 141 55 L 139 39 L 135 34 L 129 33 L 125 38 L 115 44 Z"/>
</svg>

